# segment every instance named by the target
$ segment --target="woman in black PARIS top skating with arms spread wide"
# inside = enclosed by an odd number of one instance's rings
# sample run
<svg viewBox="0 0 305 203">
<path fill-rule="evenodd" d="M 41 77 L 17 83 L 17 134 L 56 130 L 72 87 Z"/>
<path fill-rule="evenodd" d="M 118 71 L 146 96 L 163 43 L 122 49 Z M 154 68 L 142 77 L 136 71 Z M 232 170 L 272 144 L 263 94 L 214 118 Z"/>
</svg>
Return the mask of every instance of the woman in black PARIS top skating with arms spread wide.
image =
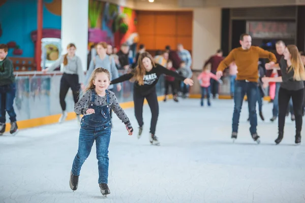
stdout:
<svg viewBox="0 0 305 203">
<path fill-rule="evenodd" d="M 165 74 L 172 76 L 176 79 L 184 81 L 187 85 L 193 85 L 193 80 L 185 78 L 170 71 L 160 64 L 155 64 L 154 59 L 148 52 L 141 53 L 138 59 L 138 65 L 129 74 L 125 74 L 115 80 L 111 81 L 111 84 L 120 83 L 132 79 L 134 81 L 134 105 L 135 116 L 139 124 L 138 138 L 141 137 L 143 130 L 143 103 L 146 98 L 151 111 L 150 122 L 150 143 L 153 145 L 159 145 L 158 138 L 155 136 L 156 125 L 159 115 L 159 105 L 156 93 L 156 84 L 160 75 Z"/>
</svg>

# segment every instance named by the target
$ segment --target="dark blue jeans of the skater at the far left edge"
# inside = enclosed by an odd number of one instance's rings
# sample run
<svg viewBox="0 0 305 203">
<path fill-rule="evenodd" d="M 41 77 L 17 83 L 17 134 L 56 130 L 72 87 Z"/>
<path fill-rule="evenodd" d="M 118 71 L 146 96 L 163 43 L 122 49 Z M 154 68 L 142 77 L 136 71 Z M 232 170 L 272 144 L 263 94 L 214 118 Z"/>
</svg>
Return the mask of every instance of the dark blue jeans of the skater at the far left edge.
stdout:
<svg viewBox="0 0 305 203">
<path fill-rule="evenodd" d="M 6 112 L 8 112 L 11 122 L 16 121 L 16 113 L 13 107 L 15 96 L 15 83 L 0 86 L 0 123 L 6 123 Z"/>
</svg>

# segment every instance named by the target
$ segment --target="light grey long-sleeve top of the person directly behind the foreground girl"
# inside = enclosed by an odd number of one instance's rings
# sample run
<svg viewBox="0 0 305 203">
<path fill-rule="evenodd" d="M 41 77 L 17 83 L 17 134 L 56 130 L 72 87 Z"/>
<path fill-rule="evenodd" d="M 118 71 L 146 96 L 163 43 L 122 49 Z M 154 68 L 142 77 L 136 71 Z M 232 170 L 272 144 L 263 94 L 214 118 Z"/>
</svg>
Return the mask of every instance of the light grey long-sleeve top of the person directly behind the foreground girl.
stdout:
<svg viewBox="0 0 305 203">
<path fill-rule="evenodd" d="M 115 66 L 115 61 L 113 57 L 109 57 L 108 55 L 102 60 L 99 56 L 95 56 L 89 64 L 89 70 L 86 73 L 86 84 L 88 83 L 89 77 L 92 72 L 98 68 L 103 67 L 103 69 L 107 69 L 110 73 L 110 81 L 118 78 L 118 71 Z M 108 89 L 112 89 L 113 85 L 109 85 Z"/>
</svg>

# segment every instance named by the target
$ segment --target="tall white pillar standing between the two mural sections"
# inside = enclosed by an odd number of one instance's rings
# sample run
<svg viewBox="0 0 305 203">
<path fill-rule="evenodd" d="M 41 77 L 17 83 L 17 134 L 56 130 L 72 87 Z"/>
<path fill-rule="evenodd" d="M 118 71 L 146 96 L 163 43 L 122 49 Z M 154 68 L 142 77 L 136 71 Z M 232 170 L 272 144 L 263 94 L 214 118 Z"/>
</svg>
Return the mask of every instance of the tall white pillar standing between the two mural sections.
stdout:
<svg viewBox="0 0 305 203">
<path fill-rule="evenodd" d="M 81 59 L 83 70 L 87 70 L 88 2 L 88 0 L 62 1 L 63 54 L 67 53 L 68 44 L 75 44 L 76 55 Z"/>
</svg>

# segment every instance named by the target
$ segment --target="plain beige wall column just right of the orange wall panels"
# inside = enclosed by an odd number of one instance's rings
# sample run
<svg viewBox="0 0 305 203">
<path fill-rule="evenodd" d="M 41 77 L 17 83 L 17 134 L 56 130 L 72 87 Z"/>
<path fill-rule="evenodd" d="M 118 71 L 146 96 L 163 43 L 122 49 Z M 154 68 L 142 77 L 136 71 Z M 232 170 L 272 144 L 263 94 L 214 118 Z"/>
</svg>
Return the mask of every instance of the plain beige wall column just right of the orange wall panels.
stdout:
<svg viewBox="0 0 305 203">
<path fill-rule="evenodd" d="M 203 63 L 221 48 L 221 8 L 194 9 L 193 69 L 201 70 Z"/>
</svg>

